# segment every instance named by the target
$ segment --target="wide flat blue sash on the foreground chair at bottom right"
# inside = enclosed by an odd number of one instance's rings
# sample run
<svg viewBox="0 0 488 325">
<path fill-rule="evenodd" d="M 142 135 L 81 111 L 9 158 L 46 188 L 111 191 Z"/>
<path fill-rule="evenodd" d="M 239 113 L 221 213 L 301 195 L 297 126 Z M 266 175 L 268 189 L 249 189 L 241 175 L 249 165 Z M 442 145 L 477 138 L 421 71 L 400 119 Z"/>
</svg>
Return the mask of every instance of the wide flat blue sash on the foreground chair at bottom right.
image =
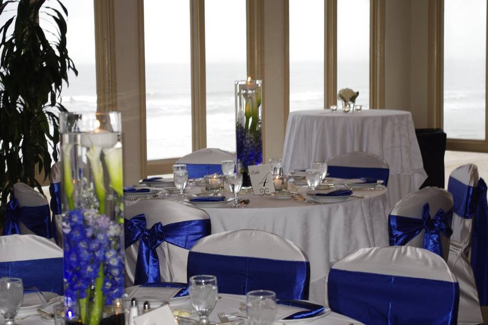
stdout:
<svg viewBox="0 0 488 325">
<path fill-rule="evenodd" d="M 332 311 L 368 325 L 457 323 L 457 282 L 331 269 L 327 291 Z"/>
</svg>

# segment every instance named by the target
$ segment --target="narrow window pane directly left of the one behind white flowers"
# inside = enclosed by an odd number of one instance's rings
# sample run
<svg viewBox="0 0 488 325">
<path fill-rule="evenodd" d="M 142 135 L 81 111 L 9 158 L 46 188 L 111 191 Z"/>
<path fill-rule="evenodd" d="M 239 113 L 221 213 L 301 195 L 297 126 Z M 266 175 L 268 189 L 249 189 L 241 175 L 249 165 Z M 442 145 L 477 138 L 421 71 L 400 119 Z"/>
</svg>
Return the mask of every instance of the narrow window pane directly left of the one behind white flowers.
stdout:
<svg viewBox="0 0 488 325">
<path fill-rule="evenodd" d="M 324 1 L 290 0 L 289 26 L 290 112 L 323 109 Z"/>
</svg>

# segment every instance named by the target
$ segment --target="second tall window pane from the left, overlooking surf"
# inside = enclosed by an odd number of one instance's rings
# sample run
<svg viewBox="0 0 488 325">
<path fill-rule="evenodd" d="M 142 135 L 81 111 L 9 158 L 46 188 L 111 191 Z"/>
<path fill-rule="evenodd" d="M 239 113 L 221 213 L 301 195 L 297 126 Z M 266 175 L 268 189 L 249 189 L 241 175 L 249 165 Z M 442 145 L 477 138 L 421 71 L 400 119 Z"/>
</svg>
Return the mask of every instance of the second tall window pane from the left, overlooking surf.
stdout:
<svg viewBox="0 0 488 325">
<path fill-rule="evenodd" d="M 147 160 L 192 152 L 190 6 L 144 1 Z"/>
</svg>

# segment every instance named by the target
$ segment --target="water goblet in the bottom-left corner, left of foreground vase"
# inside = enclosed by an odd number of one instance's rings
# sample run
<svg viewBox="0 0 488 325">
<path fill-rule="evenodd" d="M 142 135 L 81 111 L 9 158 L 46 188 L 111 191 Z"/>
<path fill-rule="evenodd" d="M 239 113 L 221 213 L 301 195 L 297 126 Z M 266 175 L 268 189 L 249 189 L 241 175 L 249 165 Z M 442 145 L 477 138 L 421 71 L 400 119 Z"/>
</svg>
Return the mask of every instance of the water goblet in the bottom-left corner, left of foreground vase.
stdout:
<svg viewBox="0 0 488 325">
<path fill-rule="evenodd" d="M 19 311 L 24 298 L 22 279 L 0 279 L 0 314 L 5 318 L 5 325 L 15 325 L 15 315 Z"/>
</svg>

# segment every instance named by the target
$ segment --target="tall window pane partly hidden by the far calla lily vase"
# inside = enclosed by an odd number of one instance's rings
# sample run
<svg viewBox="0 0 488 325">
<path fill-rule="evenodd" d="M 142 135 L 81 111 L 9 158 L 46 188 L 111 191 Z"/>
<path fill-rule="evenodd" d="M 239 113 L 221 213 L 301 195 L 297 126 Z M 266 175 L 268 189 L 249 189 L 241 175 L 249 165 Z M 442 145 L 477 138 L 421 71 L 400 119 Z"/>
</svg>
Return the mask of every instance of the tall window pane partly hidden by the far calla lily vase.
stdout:
<svg viewBox="0 0 488 325">
<path fill-rule="evenodd" d="M 206 0 L 208 148 L 235 151 L 234 82 L 246 80 L 246 51 L 246 0 Z"/>
</svg>

